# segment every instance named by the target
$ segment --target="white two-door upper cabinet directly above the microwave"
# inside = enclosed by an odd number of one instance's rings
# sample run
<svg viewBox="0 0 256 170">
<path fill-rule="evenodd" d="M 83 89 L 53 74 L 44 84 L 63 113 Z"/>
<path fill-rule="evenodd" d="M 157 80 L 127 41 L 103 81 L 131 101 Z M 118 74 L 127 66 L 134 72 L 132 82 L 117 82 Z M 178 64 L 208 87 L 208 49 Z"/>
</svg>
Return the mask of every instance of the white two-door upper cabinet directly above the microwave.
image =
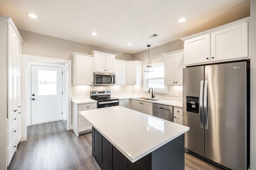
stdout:
<svg viewBox="0 0 256 170">
<path fill-rule="evenodd" d="M 94 55 L 94 72 L 115 73 L 115 54 L 93 50 L 90 55 Z"/>
</svg>

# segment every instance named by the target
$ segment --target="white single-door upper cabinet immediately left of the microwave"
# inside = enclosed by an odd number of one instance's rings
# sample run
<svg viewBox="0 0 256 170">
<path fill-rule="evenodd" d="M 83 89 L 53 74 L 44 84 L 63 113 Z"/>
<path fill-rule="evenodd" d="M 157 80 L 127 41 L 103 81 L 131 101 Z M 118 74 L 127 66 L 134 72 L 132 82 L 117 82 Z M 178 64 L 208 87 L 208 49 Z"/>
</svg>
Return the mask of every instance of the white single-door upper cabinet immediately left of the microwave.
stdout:
<svg viewBox="0 0 256 170">
<path fill-rule="evenodd" d="M 93 85 L 94 57 L 81 53 L 73 53 L 73 86 Z"/>
</svg>

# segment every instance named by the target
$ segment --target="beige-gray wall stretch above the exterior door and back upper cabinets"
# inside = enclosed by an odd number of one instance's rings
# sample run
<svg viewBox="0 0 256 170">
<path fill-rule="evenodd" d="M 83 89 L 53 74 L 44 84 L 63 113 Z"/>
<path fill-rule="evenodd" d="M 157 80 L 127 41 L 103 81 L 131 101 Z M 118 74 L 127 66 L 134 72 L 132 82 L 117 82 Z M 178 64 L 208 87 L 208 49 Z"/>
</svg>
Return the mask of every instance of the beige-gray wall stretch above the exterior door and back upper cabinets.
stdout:
<svg viewBox="0 0 256 170">
<path fill-rule="evenodd" d="M 72 60 L 72 53 L 89 54 L 90 51 L 102 51 L 116 54 L 116 59 L 132 60 L 132 54 L 122 53 L 110 49 L 104 49 L 92 45 L 76 43 L 65 39 L 50 37 L 38 33 L 19 30 L 24 43 L 22 44 L 22 54 L 35 55 L 41 57 L 52 57 L 57 59 Z"/>
</svg>

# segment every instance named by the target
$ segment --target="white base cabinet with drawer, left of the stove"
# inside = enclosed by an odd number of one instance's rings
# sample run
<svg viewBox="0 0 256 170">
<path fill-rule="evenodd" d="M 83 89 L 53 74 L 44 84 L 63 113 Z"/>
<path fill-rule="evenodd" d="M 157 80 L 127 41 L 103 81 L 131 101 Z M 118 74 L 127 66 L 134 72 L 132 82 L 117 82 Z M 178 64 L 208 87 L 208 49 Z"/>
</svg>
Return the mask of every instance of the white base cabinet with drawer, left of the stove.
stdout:
<svg viewBox="0 0 256 170">
<path fill-rule="evenodd" d="M 76 136 L 79 136 L 79 133 L 86 133 L 92 131 L 92 124 L 86 120 L 78 111 L 96 109 L 97 103 L 90 104 L 74 104 L 72 103 L 72 120 L 73 120 L 73 131 Z"/>
</svg>

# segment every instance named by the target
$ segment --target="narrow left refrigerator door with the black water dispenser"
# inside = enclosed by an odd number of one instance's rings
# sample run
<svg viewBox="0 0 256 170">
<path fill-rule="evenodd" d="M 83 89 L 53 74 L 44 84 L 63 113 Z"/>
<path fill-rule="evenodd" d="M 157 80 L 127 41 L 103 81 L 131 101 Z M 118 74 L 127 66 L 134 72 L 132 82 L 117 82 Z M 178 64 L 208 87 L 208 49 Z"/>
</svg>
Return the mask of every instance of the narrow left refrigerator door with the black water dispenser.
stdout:
<svg viewBox="0 0 256 170">
<path fill-rule="evenodd" d="M 204 66 L 183 68 L 183 125 L 190 128 L 185 133 L 185 148 L 201 156 L 204 156 L 203 85 Z"/>
</svg>

